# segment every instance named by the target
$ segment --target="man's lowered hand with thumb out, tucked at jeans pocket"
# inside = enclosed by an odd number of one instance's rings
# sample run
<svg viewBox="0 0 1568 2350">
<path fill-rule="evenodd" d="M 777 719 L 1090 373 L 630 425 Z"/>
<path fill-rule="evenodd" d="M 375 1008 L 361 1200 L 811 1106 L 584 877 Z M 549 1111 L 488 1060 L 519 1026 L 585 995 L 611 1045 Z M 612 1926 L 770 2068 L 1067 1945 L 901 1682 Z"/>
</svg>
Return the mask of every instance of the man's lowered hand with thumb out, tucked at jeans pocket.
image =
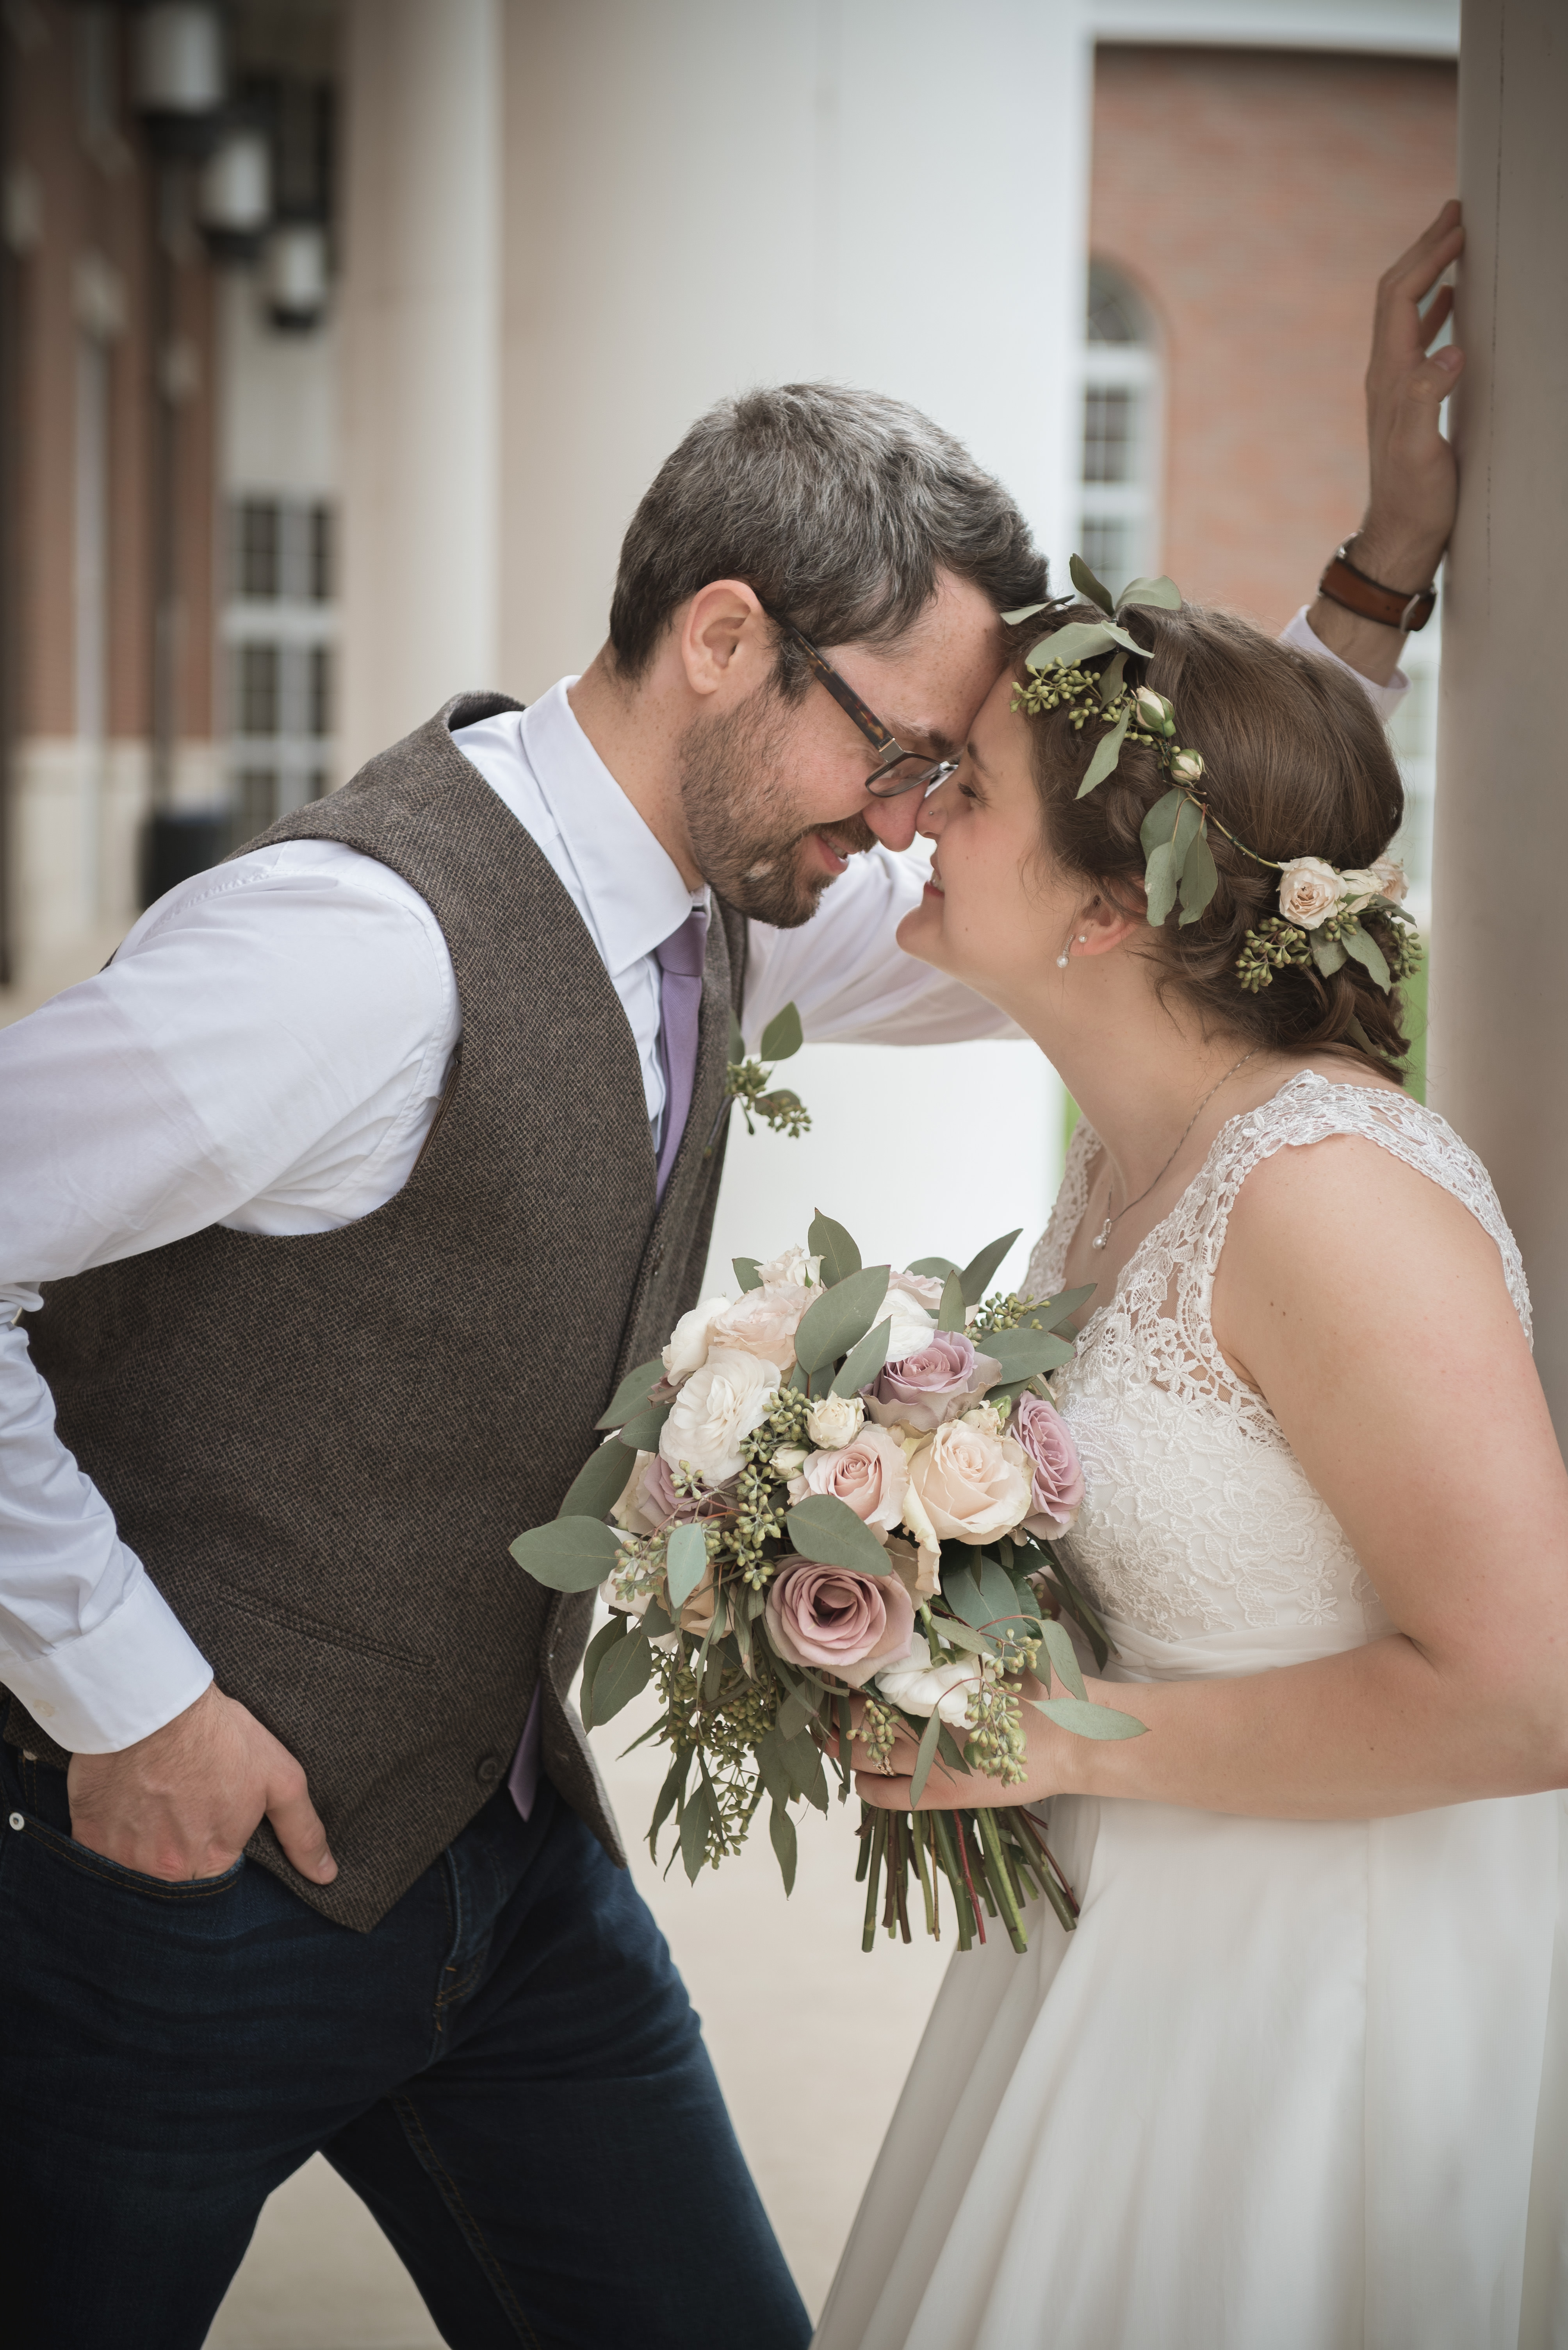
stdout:
<svg viewBox="0 0 1568 2350">
<path fill-rule="evenodd" d="M 136 1746 L 73 1755 L 66 1791 L 77 1845 L 150 1878 L 223 1875 L 263 1819 L 303 1878 L 338 1875 L 305 1772 L 216 1685 Z"/>
</svg>

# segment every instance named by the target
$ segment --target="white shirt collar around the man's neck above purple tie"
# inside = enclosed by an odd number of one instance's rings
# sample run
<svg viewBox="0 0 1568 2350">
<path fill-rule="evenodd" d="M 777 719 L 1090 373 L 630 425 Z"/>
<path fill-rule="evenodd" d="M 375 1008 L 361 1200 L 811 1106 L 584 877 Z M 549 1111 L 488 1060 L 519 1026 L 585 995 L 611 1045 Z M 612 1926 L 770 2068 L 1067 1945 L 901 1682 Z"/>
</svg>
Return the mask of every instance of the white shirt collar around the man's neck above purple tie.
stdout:
<svg viewBox="0 0 1568 2350">
<path fill-rule="evenodd" d="M 678 931 L 707 888 L 688 891 L 674 858 L 582 733 L 563 677 L 521 721 L 523 757 L 582 886 L 603 966 L 615 978 Z"/>
</svg>

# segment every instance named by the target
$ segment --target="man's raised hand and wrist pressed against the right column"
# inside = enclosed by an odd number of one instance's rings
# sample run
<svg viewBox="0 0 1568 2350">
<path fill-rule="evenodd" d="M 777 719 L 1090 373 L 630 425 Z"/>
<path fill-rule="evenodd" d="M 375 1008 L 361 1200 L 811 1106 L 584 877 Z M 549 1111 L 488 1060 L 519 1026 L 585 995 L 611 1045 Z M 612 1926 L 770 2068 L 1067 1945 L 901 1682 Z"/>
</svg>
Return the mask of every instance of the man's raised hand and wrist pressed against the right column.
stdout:
<svg viewBox="0 0 1568 2350">
<path fill-rule="evenodd" d="M 1383 588 L 1411 595 L 1434 578 L 1453 531 L 1458 470 L 1439 411 L 1465 367 L 1465 352 L 1453 343 L 1427 357 L 1453 310 L 1453 289 L 1441 287 L 1425 313 L 1420 303 L 1462 249 L 1460 207 L 1448 202 L 1380 280 L 1373 313 L 1366 364 L 1371 496 L 1350 559 Z M 1394 674 L 1404 644 L 1399 630 L 1361 620 L 1329 597 L 1319 597 L 1307 618 L 1314 634 L 1354 670 L 1380 684 Z"/>
</svg>

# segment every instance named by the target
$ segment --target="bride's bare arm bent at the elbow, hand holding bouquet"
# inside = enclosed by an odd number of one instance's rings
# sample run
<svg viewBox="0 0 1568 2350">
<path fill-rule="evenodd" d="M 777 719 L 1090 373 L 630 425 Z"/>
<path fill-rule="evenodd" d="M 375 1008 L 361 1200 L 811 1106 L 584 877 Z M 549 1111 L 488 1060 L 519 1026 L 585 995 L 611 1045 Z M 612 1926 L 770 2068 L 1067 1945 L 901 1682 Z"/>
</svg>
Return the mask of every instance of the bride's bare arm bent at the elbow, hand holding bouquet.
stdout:
<svg viewBox="0 0 1568 2350">
<path fill-rule="evenodd" d="M 1127 1744 L 1026 1708 L 1023 1788 L 972 1777 L 927 1802 L 1366 1819 L 1568 1784 L 1568 1476 L 1495 1243 L 1371 1142 L 1282 1149 L 1232 1213 L 1214 1328 L 1399 1631 L 1235 1680 L 1091 1685 L 1148 1725 Z"/>
</svg>

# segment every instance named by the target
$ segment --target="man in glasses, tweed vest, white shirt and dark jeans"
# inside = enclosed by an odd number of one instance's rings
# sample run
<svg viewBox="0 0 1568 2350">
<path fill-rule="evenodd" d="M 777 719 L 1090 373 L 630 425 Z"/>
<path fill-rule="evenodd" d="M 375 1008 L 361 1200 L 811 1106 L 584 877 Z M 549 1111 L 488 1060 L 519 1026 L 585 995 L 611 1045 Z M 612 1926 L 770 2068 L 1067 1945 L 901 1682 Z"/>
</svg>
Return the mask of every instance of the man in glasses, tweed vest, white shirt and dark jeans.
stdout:
<svg viewBox="0 0 1568 2350">
<path fill-rule="evenodd" d="M 1361 552 L 1418 588 L 1406 491 Z M 915 411 L 725 402 L 580 682 L 448 703 L 0 1034 L 19 2345 L 195 2350 L 312 2150 L 462 2350 L 805 2343 L 566 1699 L 589 1600 L 507 1542 L 695 1297 L 730 1010 L 995 1034 L 887 851 L 1042 585 Z"/>
</svg>

